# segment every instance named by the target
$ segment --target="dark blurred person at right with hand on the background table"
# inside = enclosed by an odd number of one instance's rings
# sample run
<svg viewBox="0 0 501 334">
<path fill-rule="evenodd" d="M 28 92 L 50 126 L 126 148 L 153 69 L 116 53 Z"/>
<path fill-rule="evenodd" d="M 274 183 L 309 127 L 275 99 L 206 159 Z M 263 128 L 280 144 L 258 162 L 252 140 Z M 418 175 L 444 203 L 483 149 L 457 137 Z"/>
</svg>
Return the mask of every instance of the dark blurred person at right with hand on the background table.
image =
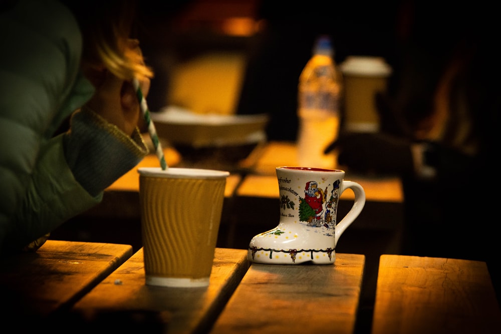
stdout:
<svg viewBox="0 0 501 334">
<path fill-rule="evenodd" d="M 499 295 L 489 193 L 499 183 L 496 20 L 482 6 L 414 6 L 402 16 L 411 29 L 397 44 L 388 94 L 377 99 L 381 131 L 341 133 L 326 151 L 337 149 L 349 171 L 401 176 L 402 254 L 485 261 Z"/>
</svg>

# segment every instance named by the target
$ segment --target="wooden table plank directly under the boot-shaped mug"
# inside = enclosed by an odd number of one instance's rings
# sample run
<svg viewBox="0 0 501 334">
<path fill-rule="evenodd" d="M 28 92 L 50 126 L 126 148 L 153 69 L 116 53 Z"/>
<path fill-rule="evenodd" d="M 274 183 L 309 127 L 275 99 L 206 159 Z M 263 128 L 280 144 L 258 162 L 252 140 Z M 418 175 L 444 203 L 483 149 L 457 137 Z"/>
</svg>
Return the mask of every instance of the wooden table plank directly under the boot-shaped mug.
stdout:
<svg viewBox="0 0 501 334">
<path fill-rule="evenodd" d="M 365 257 L 334 265 L 253 263 L 212 333 L 352 333 Z"/>
</svg>

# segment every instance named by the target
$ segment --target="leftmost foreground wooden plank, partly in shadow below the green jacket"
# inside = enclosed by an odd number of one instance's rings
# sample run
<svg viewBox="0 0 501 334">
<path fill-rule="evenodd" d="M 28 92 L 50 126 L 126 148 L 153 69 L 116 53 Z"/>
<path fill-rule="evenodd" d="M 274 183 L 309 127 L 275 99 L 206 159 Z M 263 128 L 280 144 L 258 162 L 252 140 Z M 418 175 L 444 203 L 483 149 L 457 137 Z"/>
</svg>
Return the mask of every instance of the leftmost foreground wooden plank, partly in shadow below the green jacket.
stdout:
<svg viewBox="0 0 501 334">
<path fill-rule="evenodd" d="M 48 240 L 36 252 L 4 256 L 3 309 L 34 320 L 67 310 L 131 255 L 130 245 Z"/>
</svg>

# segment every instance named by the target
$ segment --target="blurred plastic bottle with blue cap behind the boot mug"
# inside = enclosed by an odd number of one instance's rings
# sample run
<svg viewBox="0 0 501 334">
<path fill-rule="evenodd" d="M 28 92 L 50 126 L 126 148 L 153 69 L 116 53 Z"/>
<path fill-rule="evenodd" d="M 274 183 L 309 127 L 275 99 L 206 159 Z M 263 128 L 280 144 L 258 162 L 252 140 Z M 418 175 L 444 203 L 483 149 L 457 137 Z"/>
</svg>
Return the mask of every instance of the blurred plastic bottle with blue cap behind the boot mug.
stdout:
<svg viewBox="0 0 501 334">
<path fill-rule="evenodd" d="M 321 36 L 299 78 L 297 144 L 303 167 L 336 166 L 335 154 L 324 154 L 324 149 L 338 137 L 341 85 L 331 40 Z"/>
</svg>

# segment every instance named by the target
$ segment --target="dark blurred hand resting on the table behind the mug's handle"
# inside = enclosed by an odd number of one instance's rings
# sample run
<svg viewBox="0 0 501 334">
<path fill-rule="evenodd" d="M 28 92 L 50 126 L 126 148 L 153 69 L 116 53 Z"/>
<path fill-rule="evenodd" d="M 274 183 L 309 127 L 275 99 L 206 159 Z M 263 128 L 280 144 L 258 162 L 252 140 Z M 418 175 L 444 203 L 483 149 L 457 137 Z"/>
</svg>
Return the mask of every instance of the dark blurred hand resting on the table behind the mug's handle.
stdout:
<svg viewBox="0 0 501 334">
<path fill-rule="evenodd" d="M 382 133 L 340 133 L 325 152 L 338 150 L 338 163 L 356 172 L 401 174 L 413 171 L 410 143 Z"/>
</svg>

